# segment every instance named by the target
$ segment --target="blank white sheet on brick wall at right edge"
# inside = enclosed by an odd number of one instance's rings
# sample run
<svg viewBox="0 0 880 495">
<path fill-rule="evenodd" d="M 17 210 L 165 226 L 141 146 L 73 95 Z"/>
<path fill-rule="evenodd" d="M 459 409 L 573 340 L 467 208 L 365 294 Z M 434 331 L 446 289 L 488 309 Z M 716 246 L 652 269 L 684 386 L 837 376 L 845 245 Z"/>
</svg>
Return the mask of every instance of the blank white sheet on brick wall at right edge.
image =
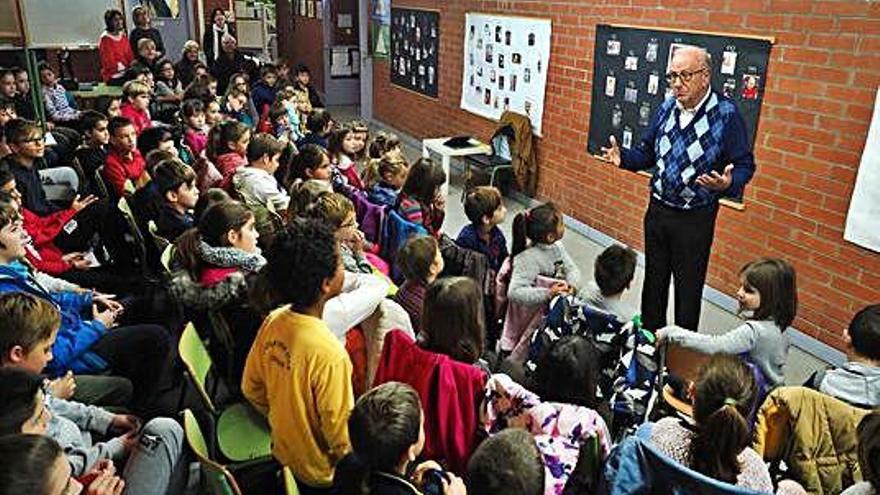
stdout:
<svg viewBox="0 0 880 495">
<path fill-rule="evenodd" d="M 849 203 L 843 238 L 880 252 L 880 88 L 874 99 L 874 116 L 862 152 L 856 187 Z"/>
</svg>

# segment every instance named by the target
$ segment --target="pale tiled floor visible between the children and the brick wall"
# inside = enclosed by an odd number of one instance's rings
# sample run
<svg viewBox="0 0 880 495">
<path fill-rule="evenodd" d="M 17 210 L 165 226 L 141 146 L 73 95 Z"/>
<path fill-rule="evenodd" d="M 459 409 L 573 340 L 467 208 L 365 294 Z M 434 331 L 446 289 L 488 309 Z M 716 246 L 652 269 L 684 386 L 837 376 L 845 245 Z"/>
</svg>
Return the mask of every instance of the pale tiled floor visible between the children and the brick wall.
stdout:
<svg viewBox="0 0 880 495">
<path fill-rule="evenodd" d="M 357 116 L 357 108 L 336 107 L 331 109 L 331 113 L 333 114 L 334 120 L 345 122 Z M 374 123 L 374 126 L 377 130 L 386 128 L 398 134 L 401 137 L 401 141 L 404 143 L 404 152 L 411 160 L 415 160 L 421 155 L 421 149 L 416 147 L 418 145 L 418 140 L 412 136 L 405 135 L 378 122 Z M 456 173 L 455 162 L 453 162 L 451 175 L 449 202 L 447 204 L 444 230 L 454 236 L 454 234 L 458 233 L 461 227 L 467 224 L 468 220 L 464 215 L 464 209 L 459 201 L 461 196 L 462 177 L 460 174 Z M 507 235 L 508 240 L 510 240 L 510 229 L 513 223 L 513 217 L 517 212 L 525 209 L 526 206 L 523 203 L 510 198 L 505 198 L 505 204 L 508 210 L 507 219 L 501 227 L 504 230 L 505 235 Z M 578 263 L 578 266 L 581 267 L 582 273 L 592 273 L 591 267 L 593 265 L 593 260 L 600 252 L 602 252 L 604 247 L 571 228 L 567 230 L 562 242 L 565 244 L 565 247 L 571 256 Z M 638 267 L 636 269 L 635 280 L 633 280 L 632 283 L 632 290 L 628 291 L 624 296 L 624 299 L 635 307 L 639 306 L 643 277 L 644 271 L 642 267 Z M 671 292 L 672 290 L 670 290 L 670 293 Z M 672 294 L 670 294 L 670 296 L 672 296 Z M 669 321 L 672 321 L 671 302 L 669 306 Z M 703 302 L 700 322 L 702 329 L 705 329 L 707 333 L 724 332 L 739 324 L 739 320 L 735 314 L 705 300 Z M 787 384 L 791 385 L 802 384 L 815 370 L 825 366 L 826 363 L 824 361 L 792 346 L 788 355 L 785 381 Z"/>
</svg>

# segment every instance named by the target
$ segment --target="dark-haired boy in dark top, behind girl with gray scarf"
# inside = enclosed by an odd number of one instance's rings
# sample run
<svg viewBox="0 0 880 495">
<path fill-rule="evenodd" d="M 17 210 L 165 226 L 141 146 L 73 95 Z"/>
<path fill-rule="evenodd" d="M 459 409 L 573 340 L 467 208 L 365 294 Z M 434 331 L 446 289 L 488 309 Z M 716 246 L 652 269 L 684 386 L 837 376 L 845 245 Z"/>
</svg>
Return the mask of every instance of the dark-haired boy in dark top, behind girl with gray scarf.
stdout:
<svg viewBox="0 0 880 495">
<path fill-rule="evenodd" d="M 156 167 L 153 182 L 162 201 L 156 233 L 173 241 L 195 225 L 191 212 L 199 200 L 196 173 L 179 160 L 165 160 Z"/>
</svg>

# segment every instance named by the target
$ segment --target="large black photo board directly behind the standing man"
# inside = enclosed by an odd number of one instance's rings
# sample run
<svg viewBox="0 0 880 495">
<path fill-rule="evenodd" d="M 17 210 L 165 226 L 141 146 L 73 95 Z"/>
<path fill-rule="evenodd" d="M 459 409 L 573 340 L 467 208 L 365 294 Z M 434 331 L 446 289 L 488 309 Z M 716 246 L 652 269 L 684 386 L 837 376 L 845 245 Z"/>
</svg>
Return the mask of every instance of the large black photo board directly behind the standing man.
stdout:
<svg viewBox="0 0 880 495">
<path fill-rule="evenodd" d="M 771 43 L 769 38 L 596 26 L 589 152 L 601 154 L 611 135 L 627 148 L 639 143 L 667 97 L 666 66 L 678 45 L 709 51 L 712 88 L 736 102 L 754 147 Z"/>
</svg>

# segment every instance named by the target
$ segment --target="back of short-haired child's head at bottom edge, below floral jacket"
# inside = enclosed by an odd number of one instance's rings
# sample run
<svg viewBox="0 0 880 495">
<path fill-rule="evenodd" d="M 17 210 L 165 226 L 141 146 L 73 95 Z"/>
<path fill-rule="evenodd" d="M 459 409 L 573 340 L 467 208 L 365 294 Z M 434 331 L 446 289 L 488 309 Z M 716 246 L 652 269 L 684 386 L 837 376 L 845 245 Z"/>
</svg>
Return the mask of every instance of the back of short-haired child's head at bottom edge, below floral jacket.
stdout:
<svg viewBox="0 0 880 495">
<path fill-rule="evenodd" d="M 468 490 L 482 495 L 544 494 L 544 466 L 532 434 L 508 428 L 483 441 L 468 461 Z"/>
</svg>

